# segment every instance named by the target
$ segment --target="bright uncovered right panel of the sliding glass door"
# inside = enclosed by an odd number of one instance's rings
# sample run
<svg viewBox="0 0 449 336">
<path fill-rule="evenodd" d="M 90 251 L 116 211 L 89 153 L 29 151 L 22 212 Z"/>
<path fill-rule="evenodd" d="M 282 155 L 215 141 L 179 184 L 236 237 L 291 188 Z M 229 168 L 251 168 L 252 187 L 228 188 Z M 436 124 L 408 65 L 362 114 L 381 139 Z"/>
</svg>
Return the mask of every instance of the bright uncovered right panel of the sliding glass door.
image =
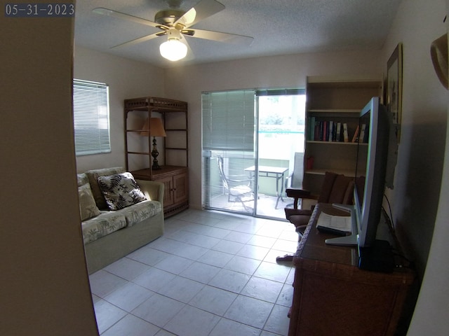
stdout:
<svg viewBox="0 0 449 336">
<path fill-rule="evenodd" d="M 295 153 L 304 153 L 305 94 L 303 90 L 295 94 L 275 91 L 257 97 L 256 215 L 285 219 L 283 209 L 292 203 L 286 188 L 295 170 Z M 296 155 L 296 160 L 303 156 Z"/>
</svg>

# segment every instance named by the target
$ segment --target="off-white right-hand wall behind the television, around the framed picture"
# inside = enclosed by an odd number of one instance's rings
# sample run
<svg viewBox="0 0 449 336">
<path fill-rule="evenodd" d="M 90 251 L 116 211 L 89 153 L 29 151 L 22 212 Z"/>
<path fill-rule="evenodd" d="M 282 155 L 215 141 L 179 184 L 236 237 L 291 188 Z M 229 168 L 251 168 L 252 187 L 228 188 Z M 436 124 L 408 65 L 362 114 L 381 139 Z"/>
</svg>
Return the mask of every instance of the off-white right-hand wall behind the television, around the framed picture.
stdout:
<svg viewBox="0 0 449 336">
<path fill-rule="evenodd" d="M 403 43 L 403 118 L 391 201 L 398 233 L 422 277 L 443 170 L 447 91 L 431 64 L 430 45 L 446 31 L 444 0 L 401 3 L 384 47 L 384 64 Z M 408 245 L 408 246 L 407 246 Z"/>
</svg>

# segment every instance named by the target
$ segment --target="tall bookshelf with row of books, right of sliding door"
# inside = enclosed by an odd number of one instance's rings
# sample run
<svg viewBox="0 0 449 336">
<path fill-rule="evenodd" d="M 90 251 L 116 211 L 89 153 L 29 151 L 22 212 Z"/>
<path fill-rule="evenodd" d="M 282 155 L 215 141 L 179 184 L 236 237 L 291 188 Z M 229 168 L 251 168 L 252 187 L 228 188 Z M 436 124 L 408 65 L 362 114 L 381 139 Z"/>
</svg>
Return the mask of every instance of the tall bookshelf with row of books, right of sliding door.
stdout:
<svg viewBox="0 0 449 336">
<path fill-rule="evenodd" d="M 354 176 L 360 135 L 358 116 L 371 97 L 382 97 L 382 80 L 308 76 L 306 94 L 303 188 L 318 194 L 326 172 Z"/>
</svg>

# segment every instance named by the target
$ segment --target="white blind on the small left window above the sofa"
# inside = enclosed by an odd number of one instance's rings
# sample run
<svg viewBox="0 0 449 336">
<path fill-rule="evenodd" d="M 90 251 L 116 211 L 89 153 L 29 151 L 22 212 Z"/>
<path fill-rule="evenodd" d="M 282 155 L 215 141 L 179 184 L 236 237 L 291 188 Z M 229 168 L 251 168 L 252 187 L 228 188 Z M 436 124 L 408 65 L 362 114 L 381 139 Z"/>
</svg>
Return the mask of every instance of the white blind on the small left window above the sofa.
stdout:
<svg viewBox="0 0 449 336">
<path fill-rule="evenodd" d="M 109 87 L 73 80 L 76 155 L 109 153 Z"/>
</svg>

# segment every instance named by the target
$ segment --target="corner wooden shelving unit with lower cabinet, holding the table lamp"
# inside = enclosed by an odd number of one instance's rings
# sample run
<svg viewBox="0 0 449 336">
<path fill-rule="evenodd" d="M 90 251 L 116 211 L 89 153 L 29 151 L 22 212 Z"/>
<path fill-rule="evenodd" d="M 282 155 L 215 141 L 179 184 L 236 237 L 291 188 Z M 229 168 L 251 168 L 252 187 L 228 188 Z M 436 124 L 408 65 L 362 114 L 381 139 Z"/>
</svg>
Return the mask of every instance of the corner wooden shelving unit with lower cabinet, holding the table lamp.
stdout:
<svg viewBox="0 0 449 336">
<path fill-rule="evenodd" d="M 158 97 L 126 99 L 124 102 L 126 169 L 136 179 L 159 181 L 165 186 L 163 211 L 172 216 L 189 207 L 189 146 L 187 102 Z M 152 169 L 152 135 L 141 137 L 145 120 L 163 120 L 166 137 L 157 137 L 159 165 Z M 149 132 L 148 130 L 145 130 Z"/>
</svg>

